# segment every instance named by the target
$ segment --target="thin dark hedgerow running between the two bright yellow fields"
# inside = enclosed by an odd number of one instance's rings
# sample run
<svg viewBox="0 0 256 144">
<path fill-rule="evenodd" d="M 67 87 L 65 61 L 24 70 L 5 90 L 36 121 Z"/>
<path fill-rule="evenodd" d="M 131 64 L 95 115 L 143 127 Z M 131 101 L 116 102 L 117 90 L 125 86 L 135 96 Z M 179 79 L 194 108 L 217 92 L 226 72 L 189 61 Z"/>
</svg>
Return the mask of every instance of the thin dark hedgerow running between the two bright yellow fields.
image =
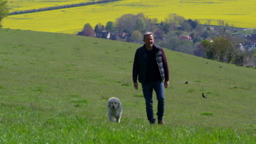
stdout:
<svg viewBox="0 0 256 144">
<path fill-rule="evenodd" d="M 40 11 L 74 8 L 74 7 L 81 7 L 81 6 L 85 6 L 85 5 L 108 3 L 108 2 L 114 2 L 114 1 L 120 1 L 120 0 L 101 0 L 101 1 L 94 1 L 94 2 L 86 2 L 86 3 L 75 3 L 75 4 L 59 5 L 59 6 L 55 6 L 55 7 L 47 7 L 47 8 L 40 8 L 40 9 L 21 10 L 21 11 L 11 12 L 8 15 L 18 15 L 18 14 L 36 13 L 36 12 L 40 12 Z"/>
</svg>

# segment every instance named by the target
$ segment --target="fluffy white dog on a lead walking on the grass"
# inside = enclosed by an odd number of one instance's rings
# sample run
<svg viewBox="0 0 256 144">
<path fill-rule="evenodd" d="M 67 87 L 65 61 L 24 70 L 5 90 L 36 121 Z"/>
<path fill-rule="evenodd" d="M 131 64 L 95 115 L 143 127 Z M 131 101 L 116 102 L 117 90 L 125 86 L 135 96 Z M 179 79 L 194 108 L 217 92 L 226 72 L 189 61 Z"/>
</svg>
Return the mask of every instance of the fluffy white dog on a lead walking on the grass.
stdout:
<svg viewBox="0 0 256 144">
<path fill-rule="evenodd" d="M 110 122 L 115 122 L 116 120 L 118 123 L 120 123 L 123 110 L 120 100 L 114 97 L 110 98 L 108 100 L 107 109 Z"/>
</svg>

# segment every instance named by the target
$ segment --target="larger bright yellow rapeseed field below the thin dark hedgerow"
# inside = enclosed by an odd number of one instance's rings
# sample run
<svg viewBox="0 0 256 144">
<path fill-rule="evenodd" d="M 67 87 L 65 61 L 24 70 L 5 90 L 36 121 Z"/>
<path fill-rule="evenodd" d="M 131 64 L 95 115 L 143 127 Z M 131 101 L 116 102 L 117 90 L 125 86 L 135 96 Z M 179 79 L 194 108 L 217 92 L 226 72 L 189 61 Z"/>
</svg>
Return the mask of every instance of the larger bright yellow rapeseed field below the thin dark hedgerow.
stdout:
<svg viewBox="0 0 256 144">
<path fill-rule="evenodd" d="M 11 15 L 3 20 L 4 28 L 30 29 L 32 31 L 77 33 L 85 23 L 94 27 L 106 25 L 124 14 L 144 13 L 149 18 L 165 21 L 169 14 L 176 13 L 185 19 L 197 19 L 201 23 L 219 20 L 235 27 L 256 28 L 255 0 L 123 0 L 68 9 L 43 11 L 40 13 Z"/>
</svg>

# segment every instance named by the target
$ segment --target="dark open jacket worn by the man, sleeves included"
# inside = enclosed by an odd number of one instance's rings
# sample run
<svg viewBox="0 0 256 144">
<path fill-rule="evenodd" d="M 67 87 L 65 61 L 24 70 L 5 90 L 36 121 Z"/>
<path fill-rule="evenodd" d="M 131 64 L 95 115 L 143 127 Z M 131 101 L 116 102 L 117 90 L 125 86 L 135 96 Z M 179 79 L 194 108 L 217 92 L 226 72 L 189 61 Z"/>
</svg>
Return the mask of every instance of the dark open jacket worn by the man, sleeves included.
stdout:
<svg viewBox="0 0 256 144">
<path fill-rule="evenodd" d="M 160 46 L 154 44 L 153 52 L 158 64 L 161 79 L 168 81 L 169 71 L 164 50 Z M 147 63 L 148 57 L 146 54 L 146 46 L 143 45 L 142 47 L 139 47 L 135 53 L 132 70 L 133 82 L 137 82 L 137 79 L 140 83 L 147 82 Z"/>
</svg>

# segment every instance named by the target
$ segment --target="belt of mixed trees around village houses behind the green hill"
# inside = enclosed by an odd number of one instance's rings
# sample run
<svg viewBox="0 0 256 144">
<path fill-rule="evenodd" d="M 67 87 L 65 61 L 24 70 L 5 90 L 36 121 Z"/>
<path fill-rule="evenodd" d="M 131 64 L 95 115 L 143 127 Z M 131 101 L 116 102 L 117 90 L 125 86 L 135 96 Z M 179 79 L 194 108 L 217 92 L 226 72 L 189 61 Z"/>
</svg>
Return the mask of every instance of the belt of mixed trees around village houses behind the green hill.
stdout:
<svg viewBox="0 0 256 144">
<path fill-rule="evenodd" d="M 95 37 L 97 33 L 107 31 L 112 33 L 113 40 L 129 41 L 143 44 L 142 34 L 153 32 L 155 43 L 174 51 L 185 52 L 191 55 L 214 59 L 220 62 L 234 63 L 236 65 L 254 65 L 254 51 L 249 51 L 248 45 L 255 40 L 256 31 L 251 37 L 233 35 L 228 31 L 228 23 L 219 20 L 219 26 L 212 27 L 211 21 L 201 25 L 197 20 L 185 19 L 177 14 L 170 14 L 164 21 L 158 23 L 157 18 L 150 19 L 142 13 L 125 14 L 114 22 L 108 21 L 106 27 L 101 23 L 92 27 L 86 23 L 80 35 Z M 115 35 L 119 34 L 119 37 Z M 129 38 L 122 38 L 125 33 Z M 183 37 L 183 36 L 186 37 Z M 185 38 L 185 39 L 184 39 Z M 188 38 L 188 39 L 186 39 Z M 245 49 L 239 49 L 241 44 Z"/>
</svg>

